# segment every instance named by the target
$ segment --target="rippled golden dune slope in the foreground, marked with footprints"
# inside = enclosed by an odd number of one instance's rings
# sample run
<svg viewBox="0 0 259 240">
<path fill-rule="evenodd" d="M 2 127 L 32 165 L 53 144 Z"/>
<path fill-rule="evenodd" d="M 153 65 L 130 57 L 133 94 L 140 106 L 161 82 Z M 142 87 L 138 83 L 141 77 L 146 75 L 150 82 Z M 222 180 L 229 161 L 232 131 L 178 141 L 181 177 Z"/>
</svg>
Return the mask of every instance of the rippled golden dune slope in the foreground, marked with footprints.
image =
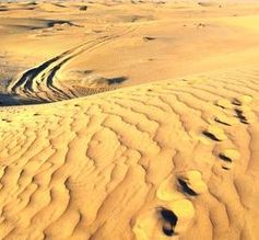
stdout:
<svg viewBox="0 0 259 240">
<path fill-rule="evenodd" d="M 1 108 L 1 239 L 258 239 L 258 81 Z"/>
</svg>

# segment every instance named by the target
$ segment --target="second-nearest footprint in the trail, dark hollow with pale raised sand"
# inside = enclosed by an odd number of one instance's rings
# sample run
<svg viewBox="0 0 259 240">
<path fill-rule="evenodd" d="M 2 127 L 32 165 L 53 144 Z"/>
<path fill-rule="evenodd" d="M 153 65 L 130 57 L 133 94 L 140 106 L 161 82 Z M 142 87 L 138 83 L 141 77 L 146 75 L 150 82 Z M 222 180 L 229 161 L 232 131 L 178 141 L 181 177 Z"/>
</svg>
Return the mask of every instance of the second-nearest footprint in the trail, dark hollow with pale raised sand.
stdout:
<svg viewBox="0 0 259 240">
<path fill-rule="evenodd" d="M 197 196 L 208 191 L 207 184 L 202 180 L 202 175 L 197 170 L 190 170 L 178 176 L 178 185 L 185 194 Z"/>
</svg>

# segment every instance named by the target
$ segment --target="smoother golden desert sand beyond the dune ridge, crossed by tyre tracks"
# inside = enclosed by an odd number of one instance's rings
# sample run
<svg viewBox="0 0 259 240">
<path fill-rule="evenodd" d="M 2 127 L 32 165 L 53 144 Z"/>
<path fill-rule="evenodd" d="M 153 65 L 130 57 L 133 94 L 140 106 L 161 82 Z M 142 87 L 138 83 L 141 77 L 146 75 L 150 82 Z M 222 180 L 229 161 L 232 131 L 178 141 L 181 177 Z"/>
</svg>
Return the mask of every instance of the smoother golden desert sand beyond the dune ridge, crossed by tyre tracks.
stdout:
<svg viewBox="0 0 259 240">
<path fill-rule="evenodd" d="M 258 3 L 205 2 L 3 2 L 0 103 L 52 102 L 257 64 Z"/>
</svg>

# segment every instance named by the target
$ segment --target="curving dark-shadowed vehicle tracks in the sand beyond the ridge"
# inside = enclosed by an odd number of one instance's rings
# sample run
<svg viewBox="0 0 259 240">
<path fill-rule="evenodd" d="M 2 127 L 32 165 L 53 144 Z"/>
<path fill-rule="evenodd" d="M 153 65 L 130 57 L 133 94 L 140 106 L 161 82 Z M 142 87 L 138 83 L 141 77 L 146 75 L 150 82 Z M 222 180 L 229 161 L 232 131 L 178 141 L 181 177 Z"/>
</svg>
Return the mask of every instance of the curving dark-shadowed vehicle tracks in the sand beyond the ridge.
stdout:
<svg viewBox="0 0 259 240">
<path fill-rule="evenodd" d="M 20 78 L 12 81 L 8 90 L 10 94 L 25 96 L 39 102 L 52 102 L 76 98 L 76 91 L 64 87 L 58 81 L 61 68 L 69 61 L 73 61 L 78 56 L 94 52 L 103 45 L 134 33 L 139 26 L 128 26 L 119 34 L 110 34 L 80 44 L 43 64 L 28 69 Z"/>
</svg>

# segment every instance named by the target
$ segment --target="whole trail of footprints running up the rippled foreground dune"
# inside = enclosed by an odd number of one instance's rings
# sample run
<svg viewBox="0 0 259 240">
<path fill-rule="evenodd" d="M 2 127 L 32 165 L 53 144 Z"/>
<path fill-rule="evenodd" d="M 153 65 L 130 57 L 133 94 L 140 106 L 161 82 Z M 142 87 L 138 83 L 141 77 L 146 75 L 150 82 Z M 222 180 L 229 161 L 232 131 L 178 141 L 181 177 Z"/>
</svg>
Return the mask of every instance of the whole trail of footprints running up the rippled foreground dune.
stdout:
<svg viewBox="0 0 259 240">
<path fill-rule="evenodd" d="M 213 141 L 224 141 L 227 139 L 223 128 L 219 124 L 233 126 L 236 124 L 250 124 L 256 116 L 249 104 L 252 98 L 243 95 L 232 101 L 226 99 L 219 100 L 215 105 L 223 108 L 223 114 L 214 118 L 215 124 L 210 125 L 202 134 Z M 219 153 L 222 160 L 222 169 L 229 170 L 233 162 L 240 158 L 236 149 L 224 149 Z M 174 191 L 175 186 L 177 190 Z M 133 232 L 137 240 L 167 239 L 178 236 L 185 231 L 195 216 L 195 207 L 187 197 L 196 197 L 208 191 L 207 184 L 202 180 L 201 172 L 190 170 L 168 176 L 157 187 L 156 197 L 163 201 L 163 207 L 153 206 L 144 210 L 133 225 Z M 156 230 L 154 230 L 156 229 Z"/>
</svg>

